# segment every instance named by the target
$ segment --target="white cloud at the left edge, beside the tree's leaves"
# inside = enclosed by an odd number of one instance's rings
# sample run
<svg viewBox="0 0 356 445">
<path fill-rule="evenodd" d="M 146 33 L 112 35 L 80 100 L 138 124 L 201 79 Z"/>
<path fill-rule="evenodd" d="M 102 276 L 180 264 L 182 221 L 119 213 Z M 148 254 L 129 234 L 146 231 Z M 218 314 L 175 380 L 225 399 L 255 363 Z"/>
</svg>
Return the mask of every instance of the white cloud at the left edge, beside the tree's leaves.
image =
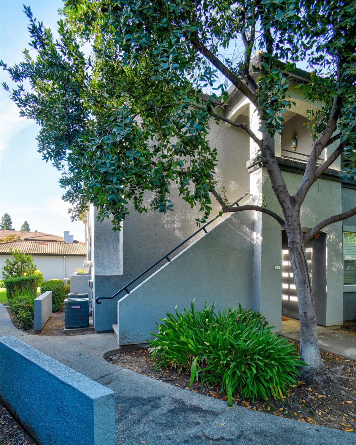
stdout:
<svg viewBox="0 0 356 445">
<path fill-rule="evenodd" d="M 16 133 L 34 122 L 20 117 L 20 109 L 9 98 L 1 99 L 0 110 L 0 150 L 4 150 Z"/>
</svg>

